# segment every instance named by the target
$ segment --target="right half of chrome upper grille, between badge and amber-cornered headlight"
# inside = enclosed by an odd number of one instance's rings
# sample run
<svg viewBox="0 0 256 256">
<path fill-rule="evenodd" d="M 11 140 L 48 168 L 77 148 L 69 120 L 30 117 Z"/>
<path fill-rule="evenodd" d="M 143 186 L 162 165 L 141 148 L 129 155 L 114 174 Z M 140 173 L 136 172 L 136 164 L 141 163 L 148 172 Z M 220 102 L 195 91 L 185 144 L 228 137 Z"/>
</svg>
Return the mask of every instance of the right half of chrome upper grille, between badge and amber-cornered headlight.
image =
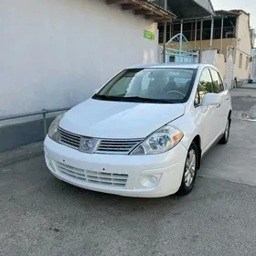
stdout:
<svg viewBox="0 0 256 256">
<path fill-rule="evenodd" d="M 142 140 L 101 140 L 94 151 L 101 154 L 128 154 Z"/>
</svg>

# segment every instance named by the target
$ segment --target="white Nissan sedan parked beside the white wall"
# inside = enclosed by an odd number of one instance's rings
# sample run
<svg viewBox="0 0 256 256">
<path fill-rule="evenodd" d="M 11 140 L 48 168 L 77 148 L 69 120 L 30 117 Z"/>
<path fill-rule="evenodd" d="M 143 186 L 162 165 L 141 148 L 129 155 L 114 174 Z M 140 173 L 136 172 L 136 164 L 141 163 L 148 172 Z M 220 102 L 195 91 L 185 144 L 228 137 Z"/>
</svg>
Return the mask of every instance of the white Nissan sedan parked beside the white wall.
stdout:
<svg viewBox="0 0 256 256">
<path fill-rule="evenodd" d="M 49 171 L 74 186 L 128 197 L 187 195 L 202 156 L 227 144 L 231 99 L 204 64 L 124 69 L 51 123 Z"/>
</svg>

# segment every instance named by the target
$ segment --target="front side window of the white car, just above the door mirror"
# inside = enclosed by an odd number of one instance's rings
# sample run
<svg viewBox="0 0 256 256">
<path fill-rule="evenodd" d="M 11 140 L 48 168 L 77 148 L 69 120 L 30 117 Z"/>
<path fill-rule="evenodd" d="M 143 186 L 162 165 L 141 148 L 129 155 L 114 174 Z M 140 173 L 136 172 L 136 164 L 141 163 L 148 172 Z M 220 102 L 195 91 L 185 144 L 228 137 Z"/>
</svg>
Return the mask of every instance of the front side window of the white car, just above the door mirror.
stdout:
<svg viewBox="0 0 256 256">
<path fill-rule="evenodd" d="M 209 69 L 204 69 L 201 73 L 199 84 L 197 86 L 197 93 L 195 97 L 195 106 L 199 105 L 208 92 L 213 91 L 212 79 L 209 73 Z"/>
</svg>

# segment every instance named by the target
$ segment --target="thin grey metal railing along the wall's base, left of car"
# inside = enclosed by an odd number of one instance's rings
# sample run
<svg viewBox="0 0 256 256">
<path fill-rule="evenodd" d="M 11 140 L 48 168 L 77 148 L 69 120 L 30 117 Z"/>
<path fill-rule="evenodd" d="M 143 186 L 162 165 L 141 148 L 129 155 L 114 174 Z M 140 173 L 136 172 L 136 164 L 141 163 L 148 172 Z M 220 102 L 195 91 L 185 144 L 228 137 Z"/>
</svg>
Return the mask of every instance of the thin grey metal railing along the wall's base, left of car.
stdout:
<svg viewBox="0 0 256 256">
<path fill-rule="evenodd" d="M 65 112 L 65 111 L 68 111 L 69 109 L 70 108 L 59 108 L 59 109 L 51 109 L 51 110 L 43 109 L 43 110 L 38 111 L 38 112 L 27 112 L 27 113 L 13 114 L 13 115 L 5 115 L 5 116 L 2 116 L 2 117 L 0 116 L 0 122 L 1 121 L 6 121 L 6 120 L 22 118 L 22 117 L 42 115 L 43 125 L 44 125 L 44 134 L 46 136 L 47 133 L 48 133 L 47 114 L 48 113 L 53 113 L 53 112 Z"/>
</svg>

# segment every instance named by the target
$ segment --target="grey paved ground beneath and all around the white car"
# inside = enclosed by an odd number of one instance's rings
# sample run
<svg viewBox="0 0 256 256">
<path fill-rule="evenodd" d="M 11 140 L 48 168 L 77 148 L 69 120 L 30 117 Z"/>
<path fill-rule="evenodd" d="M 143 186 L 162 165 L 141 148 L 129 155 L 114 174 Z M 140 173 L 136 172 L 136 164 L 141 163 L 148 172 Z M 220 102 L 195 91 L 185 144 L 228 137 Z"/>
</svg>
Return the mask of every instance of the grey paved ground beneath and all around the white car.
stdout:
<svg viewBox="0 0 256 256">
<path fill-rule="evenodd" d="M 232 92 L 235 114 L 256 105 L 241 93 Z M 48 173 L 41 155 L 2 165 L 0 255 L 254 256 L 255 131 L 256 124 L 234 118 L 229 144 L 208 154 L 187 197 L 72 187 Z"/>
</svg>

